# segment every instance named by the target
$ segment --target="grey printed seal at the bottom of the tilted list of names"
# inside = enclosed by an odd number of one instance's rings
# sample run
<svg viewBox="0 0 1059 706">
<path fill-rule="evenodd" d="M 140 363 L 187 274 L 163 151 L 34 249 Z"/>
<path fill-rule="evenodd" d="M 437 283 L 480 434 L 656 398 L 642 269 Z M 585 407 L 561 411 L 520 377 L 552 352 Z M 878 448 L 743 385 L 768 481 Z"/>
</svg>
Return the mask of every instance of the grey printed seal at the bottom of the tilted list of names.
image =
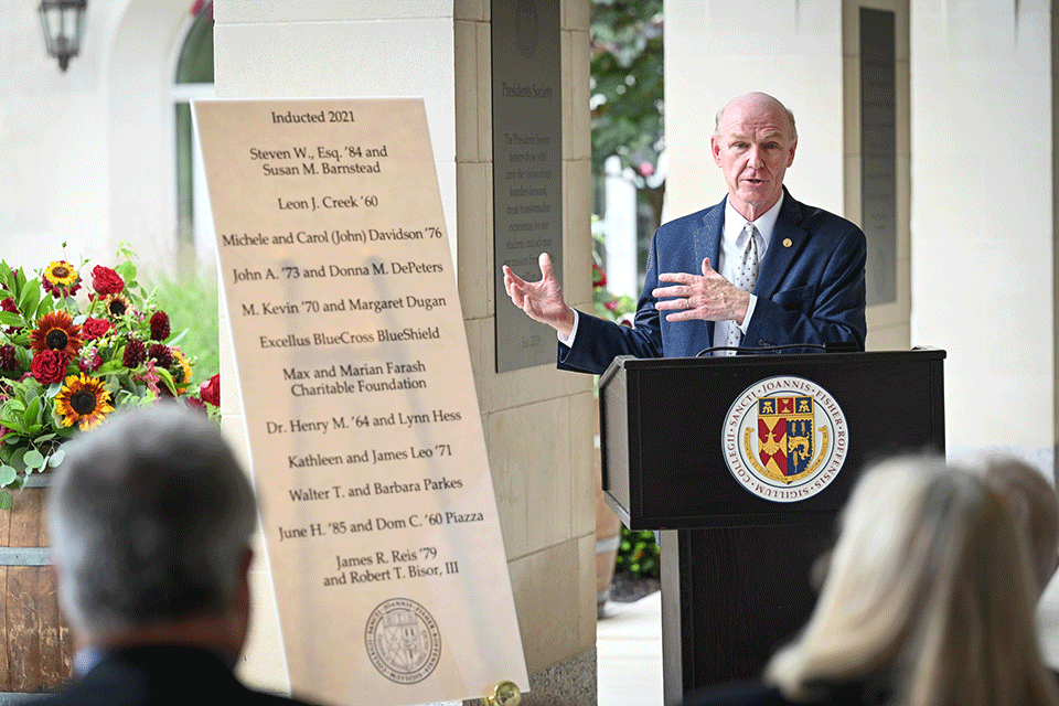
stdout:
<svg viewBox="0 0 1059 706">
<path fill-rule="evenodd" d="M 364 630 L 367 657 L 396 684 L 416 684 L 441 660 L 441 632 L 426 608 L 407 598 L 391 598 L 372 611 Z"/>
</svg>

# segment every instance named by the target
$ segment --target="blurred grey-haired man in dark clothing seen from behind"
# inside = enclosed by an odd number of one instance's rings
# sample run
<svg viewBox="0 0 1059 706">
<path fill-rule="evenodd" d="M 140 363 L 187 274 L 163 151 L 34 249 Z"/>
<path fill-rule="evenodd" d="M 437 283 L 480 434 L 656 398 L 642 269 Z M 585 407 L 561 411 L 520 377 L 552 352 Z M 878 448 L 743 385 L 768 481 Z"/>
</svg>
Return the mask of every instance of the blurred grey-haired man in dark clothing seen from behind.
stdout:
<svg viewBox="0 0 1059 706">
<path fill-rule="evenodd" d="M 215 421 L 175 404 L 67 445 L 49 496 L 79 680 L 46 704 L 290 704 L 234 675 L 249 622 L 254 492 Z"/>
</svg>

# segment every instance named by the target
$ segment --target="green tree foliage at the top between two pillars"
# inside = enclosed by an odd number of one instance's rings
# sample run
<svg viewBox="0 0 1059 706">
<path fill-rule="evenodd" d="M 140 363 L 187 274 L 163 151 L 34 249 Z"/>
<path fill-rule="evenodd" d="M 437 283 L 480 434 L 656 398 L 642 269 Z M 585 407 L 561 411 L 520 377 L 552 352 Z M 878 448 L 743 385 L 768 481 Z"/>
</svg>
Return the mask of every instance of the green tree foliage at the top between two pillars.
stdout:
<svg viewBox="0 0 1059 706">
<path fill-rule="evenodd" d="M 664 147 L 663 0 L 593 0 L 591 18 L 592 163 L 611 154 L 641 176 Z"/>
</svg>

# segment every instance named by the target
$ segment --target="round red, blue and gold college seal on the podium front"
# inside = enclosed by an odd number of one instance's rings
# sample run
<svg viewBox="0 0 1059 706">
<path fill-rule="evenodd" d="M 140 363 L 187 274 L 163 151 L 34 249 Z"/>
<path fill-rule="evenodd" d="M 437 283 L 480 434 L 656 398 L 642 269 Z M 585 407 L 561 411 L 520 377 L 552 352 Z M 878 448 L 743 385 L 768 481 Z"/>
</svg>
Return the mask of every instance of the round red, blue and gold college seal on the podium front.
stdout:
<svg viewBox="0 0 1059 706">
<path fill-rule="evenodd" d="M 820 385 L 793 375 L 745 389 L 728 410 L 723 434 L 725 461 L 739 484 L 781 503 L 827 488 L 849 449 L 838 403 Z"/>
</svg>

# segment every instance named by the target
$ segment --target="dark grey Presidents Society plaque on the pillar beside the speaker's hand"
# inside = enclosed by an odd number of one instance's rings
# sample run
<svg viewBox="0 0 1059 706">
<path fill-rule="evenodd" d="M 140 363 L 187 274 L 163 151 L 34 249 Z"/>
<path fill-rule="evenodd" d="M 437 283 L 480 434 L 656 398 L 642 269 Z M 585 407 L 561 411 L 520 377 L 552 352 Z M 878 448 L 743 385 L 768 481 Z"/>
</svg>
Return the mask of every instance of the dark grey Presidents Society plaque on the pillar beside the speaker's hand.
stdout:
<svg viewBox="0 0 1059 706">
<path fill-rule="evenodd" d="M 493 0 L 493 277 L 496 372 L 555 363 L 555 331 L 504 291 L 502 265 L 541 279 L 537 256 L 563 277 L 563 90 L 559 0 Z M 588 272 L 585 272 L 588 277 Z"/>
</svg>

